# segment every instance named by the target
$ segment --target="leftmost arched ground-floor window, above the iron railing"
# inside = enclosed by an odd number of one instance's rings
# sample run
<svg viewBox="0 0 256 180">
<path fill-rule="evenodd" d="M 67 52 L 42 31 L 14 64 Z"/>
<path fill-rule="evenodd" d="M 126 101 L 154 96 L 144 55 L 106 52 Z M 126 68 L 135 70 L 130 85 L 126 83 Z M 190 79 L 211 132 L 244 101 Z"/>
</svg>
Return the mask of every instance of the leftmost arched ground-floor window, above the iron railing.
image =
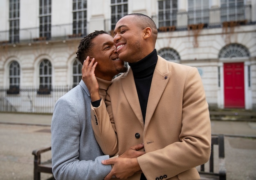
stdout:
<svg viewBox="0 0 256 180">
<path fill-rule="evenodd" d="M 7 94 L 20 93 L 20 65 L 17 61 L 13 61 L 10 64 L 9 83 L 10 88 L 7 90 Z"/>
</svg>

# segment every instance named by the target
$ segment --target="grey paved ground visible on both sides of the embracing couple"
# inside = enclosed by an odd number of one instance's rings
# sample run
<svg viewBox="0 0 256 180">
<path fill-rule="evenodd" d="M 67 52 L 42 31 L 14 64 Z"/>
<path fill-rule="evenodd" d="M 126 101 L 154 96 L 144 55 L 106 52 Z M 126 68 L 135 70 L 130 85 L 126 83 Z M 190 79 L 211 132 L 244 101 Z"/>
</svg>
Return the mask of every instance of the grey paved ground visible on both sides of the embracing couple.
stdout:
<svg viewBox="0 0 256 180">
<path fill-rule="evenodd" d="M 50 146 L 51 121 L 52 114 L 0 113 L 0 180 L 33 180 L 32 151 Z M 225 135 L 227 180 L 256 180 L 256 121 L 211 120 L 211 132 Z"/>
</svg>

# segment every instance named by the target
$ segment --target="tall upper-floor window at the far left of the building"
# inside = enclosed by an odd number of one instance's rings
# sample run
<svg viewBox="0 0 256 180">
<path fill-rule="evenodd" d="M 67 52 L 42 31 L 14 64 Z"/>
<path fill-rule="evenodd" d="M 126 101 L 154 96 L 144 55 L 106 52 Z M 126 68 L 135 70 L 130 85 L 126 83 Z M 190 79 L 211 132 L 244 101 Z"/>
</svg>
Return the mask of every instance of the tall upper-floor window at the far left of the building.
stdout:
<svg viewBox="0 0 256 180">
<path fill-rule="evenodd" d="M 9 41 L 19 42 L 20 0 L 9 1 Z"/>
</svg>

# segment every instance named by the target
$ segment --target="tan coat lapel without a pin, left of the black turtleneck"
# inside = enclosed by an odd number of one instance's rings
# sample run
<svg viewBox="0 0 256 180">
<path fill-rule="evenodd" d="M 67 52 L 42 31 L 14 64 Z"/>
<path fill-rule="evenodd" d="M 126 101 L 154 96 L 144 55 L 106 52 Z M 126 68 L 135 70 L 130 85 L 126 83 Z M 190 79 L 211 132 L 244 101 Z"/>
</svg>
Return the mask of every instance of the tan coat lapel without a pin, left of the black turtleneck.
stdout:
<svg viewBox="0 0 256 180">
<path fill-rule="evenodd" d="M 121 78 L 121 84 L 124 91 L 124 95 L 132 108 L 132 111 L 135 113 L 137 119 L 141 123 L 141 126 L 144 127 L 143 117 L 141 113 L 141 108 L 139 104 L 138 93 L 132 73 L 130 68 L 127 75 L 124 78 Z M 127 109 L 128 110 L 128 109 Z"/>
</svg>

